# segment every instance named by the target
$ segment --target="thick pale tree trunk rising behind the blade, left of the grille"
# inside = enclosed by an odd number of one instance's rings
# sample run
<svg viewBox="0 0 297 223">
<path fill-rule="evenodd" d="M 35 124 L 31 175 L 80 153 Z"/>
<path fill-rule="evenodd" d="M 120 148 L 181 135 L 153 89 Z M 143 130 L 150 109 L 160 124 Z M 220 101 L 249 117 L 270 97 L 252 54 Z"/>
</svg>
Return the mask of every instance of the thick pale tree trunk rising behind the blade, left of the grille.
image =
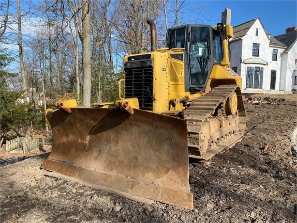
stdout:
<svg viewBox="0 0 297 223">
<path fill-rule="evenodd" d="M 83 100 L 84 106 L 91 105 L 91 38 L 90 38 L 90 14 L 89 0 L 83 0 L 82 6 L 82 27 L 83 27 Z"/>
</svg>

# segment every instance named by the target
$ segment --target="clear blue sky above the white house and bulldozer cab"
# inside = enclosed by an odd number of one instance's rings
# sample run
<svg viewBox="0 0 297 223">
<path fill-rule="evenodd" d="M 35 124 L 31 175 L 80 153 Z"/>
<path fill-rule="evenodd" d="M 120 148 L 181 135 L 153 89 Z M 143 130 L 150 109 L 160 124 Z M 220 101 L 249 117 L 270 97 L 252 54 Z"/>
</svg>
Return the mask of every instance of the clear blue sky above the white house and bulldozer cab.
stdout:
<svg viewBox="0 0 297 223">
<path fill-rule="evenodd" d="M 231 9 L 232 26 L 259 17 L 272 36 L 283 34 L 286 28 L 297 25 L 297 0 L 186 0 L 185 4 L 187 8 L 206 6 L 202 19 L 209 25 L 221 21 L 225 8 Z"/>
</svg>

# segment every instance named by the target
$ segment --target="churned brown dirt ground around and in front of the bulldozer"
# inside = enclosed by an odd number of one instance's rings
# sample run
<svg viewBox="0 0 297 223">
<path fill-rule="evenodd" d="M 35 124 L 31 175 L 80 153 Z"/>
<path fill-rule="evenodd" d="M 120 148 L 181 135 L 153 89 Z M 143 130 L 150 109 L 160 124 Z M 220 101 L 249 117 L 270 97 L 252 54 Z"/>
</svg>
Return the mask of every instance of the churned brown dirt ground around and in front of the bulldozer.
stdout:
<svg viewBox="0 0 297 223">
<path fill-rule="evenodd" d="M 193 210 L 142 204 L 45 176 L 40 166 L 48 153 L 35 151 L 0 167 L 0 222 L 297 222 L 297 158 L 290 139 L 297 95 L 257 98 L 259 104 L 245 103 L 241 142 L 205 163 L 190 162 Z M 0 152 L 1 159 L 10 156 Z"/>
</svg>

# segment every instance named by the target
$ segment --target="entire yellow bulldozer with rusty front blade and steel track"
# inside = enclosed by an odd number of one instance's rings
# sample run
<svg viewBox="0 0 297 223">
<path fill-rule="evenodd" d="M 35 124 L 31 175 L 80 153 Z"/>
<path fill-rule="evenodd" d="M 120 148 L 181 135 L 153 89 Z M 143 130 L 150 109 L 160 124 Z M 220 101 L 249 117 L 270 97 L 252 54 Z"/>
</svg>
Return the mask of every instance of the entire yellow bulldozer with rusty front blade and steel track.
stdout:
<svg viewBox="0 0 297 223">
<path fill-rule="evenodd" d="M 189 157 L 208 160 L 232 147 L 246 125 L 228 55 L 233 29 L 222 20 L 170 28 L 166 48 L 157 48 L 147 19 L 151 51 L 124 56 L 114 108 L 65 100 L 46 114 L 53 145 L 41 167 L 137 201 L 192 209 Z"/>
</svg>

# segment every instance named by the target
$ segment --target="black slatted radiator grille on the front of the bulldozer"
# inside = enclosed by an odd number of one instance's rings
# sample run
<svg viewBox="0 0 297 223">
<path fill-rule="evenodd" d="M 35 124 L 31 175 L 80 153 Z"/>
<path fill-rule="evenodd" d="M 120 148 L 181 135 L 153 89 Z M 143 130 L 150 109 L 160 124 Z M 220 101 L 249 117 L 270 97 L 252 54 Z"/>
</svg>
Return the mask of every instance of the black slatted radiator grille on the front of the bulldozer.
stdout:
<svg viewBox="0 0 297 223">
<path fill-rule="evenodd" d="M 153 109 L 153 60 L 136 60 L 124 63 L 125 98 L 137 97 L 143 110 Z"/>
</svg>

